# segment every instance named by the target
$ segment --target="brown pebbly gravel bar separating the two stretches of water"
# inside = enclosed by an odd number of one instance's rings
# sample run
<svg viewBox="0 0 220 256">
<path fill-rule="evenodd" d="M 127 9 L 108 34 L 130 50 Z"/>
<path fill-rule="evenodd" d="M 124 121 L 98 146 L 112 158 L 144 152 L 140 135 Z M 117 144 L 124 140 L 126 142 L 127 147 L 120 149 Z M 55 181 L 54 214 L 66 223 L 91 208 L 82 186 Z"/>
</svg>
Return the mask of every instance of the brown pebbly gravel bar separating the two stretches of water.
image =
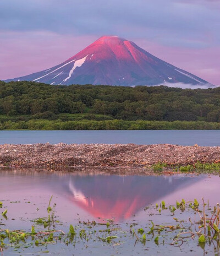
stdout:
<svg viewBox="0 0 220 256">
<path fill-rule="evenodd" d="M 220 162 L 220 147 L 171 144 L 0 145 L 0 166 L 35 168 L 145 167 L 158 162 L 188 165 Z"/>
</svg>

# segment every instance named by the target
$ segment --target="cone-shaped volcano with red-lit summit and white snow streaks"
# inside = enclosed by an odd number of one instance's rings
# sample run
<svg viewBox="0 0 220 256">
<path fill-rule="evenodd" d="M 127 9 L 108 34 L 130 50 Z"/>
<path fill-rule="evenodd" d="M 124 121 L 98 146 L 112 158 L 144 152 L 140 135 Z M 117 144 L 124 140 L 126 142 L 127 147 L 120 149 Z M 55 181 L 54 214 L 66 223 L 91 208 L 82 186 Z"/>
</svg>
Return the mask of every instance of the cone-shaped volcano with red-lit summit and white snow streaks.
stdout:
<svg viewBox="0 0 220 256">
<path fill-rule="evenodd" d="M 162 61 L 118 36 L 102 36 L 67 61 L 41 72 L 5 81 L 36 81 L 70 85 L 172 85 L 213 86 L 195 75 Z"/>
</svg>

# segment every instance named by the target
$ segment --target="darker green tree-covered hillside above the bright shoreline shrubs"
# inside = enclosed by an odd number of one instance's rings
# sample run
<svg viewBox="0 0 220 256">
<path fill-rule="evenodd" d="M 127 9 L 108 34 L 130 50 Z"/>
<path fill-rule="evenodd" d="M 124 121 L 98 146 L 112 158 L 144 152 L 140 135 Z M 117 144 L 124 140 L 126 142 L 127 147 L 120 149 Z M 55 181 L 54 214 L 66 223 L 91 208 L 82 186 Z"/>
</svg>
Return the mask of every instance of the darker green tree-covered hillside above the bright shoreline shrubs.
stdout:
<svg viewBox="0 0 220 256">
<path fill-rule="evenodd" d="M 96 121 L 206 121 L 220 122 L 220 88 L 180 89 L 167 86 L 70 85 L 32 81 L 0 81 L 0 122 L 30 119 L 74 121 L 73 116 Z M 97 120 L 97 115 L 102 115 Z M 63 119 L 62 119 L 63 118 Z"/>
</svg>

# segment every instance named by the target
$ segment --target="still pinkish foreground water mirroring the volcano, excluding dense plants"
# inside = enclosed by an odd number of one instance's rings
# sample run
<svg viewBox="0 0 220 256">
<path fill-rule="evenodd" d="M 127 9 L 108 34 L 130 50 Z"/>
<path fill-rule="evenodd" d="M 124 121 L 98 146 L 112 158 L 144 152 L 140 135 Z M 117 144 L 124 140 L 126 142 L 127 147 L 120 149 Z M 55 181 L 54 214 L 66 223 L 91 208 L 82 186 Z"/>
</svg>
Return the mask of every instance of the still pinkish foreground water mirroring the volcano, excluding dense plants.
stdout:
<svg viewBox="0 0 220 256">
<path fill-rule="evenodd" d="M 37 217 L 47 216 L 48 201 L 53 195 L 56 203 L 56 217 L 59 230 L 68 232 L 69 225 L 76 232 L 85 230 L 86 238 L 79 238 L 71 244 L 56 242 L 45 246 L 8 247 L 3 255 L 219 255 L 212 245 L 205 249 L 197 246 L 189 238 L 181 247 L 171 245 L 175 231 L 156 233 L 147 236 L 146 243 L 136 241 L 131 235 L 131 226 L 150 231 L 151 221 L 158 225 L 173 225 L 173 217 L 188 220 L 194 218 L 194 211 L 182 213 L 169 209 L 159 214 L 155 208 L 164 200 L 166 205 L 175 205 L 178 200 L 185 201 L 201 197 L 209 200 L 209 205 L 219 201 L 220 177 L 208 175 L 169 175 L 141 176 L 124 172 L 109 174 L 99 172 L 54 172 L 35 170 L 1 170 L 0 201 L 8 209 L 7 220 L 0 217 L 1 228 L 10 230 L 30 230 Z M 147 207 L 147 208 L 146 208 Z M 150 207 L 150 208 L 148 208 Z M 159 206 L 160 207 L 160 206 Z M 145 209 L 145 210 L 144 210 Z M 184 215 L 185 214 L 185 215 Z M 111 236 L 117 238 L 106 242 L 106 224 L 112 220 Z M 88 226 L 80 221 L 95 221 L 97 225 Z M 111 221 L 110 221 L 111 222 Z M 175 221 L 174 221 L 175 222 Z M 155 237 L 159 235 L 158 243 Z M 140 236 L 140 235 L 138 235 Z"/>
</svg>

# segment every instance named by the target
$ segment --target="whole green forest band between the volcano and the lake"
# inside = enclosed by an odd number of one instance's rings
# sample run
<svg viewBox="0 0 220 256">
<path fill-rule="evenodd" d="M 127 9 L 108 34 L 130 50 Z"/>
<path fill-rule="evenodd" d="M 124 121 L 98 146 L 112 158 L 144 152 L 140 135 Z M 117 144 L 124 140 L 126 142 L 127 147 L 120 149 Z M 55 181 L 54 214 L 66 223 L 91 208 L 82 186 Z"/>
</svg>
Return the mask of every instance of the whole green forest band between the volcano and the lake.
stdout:
<svg viewBox="0 0 220 256">
<path fill-rule="evenodd" d="M 219 129 L 220 88 L 0 81 L 0 129 Z"/>
</svg>

